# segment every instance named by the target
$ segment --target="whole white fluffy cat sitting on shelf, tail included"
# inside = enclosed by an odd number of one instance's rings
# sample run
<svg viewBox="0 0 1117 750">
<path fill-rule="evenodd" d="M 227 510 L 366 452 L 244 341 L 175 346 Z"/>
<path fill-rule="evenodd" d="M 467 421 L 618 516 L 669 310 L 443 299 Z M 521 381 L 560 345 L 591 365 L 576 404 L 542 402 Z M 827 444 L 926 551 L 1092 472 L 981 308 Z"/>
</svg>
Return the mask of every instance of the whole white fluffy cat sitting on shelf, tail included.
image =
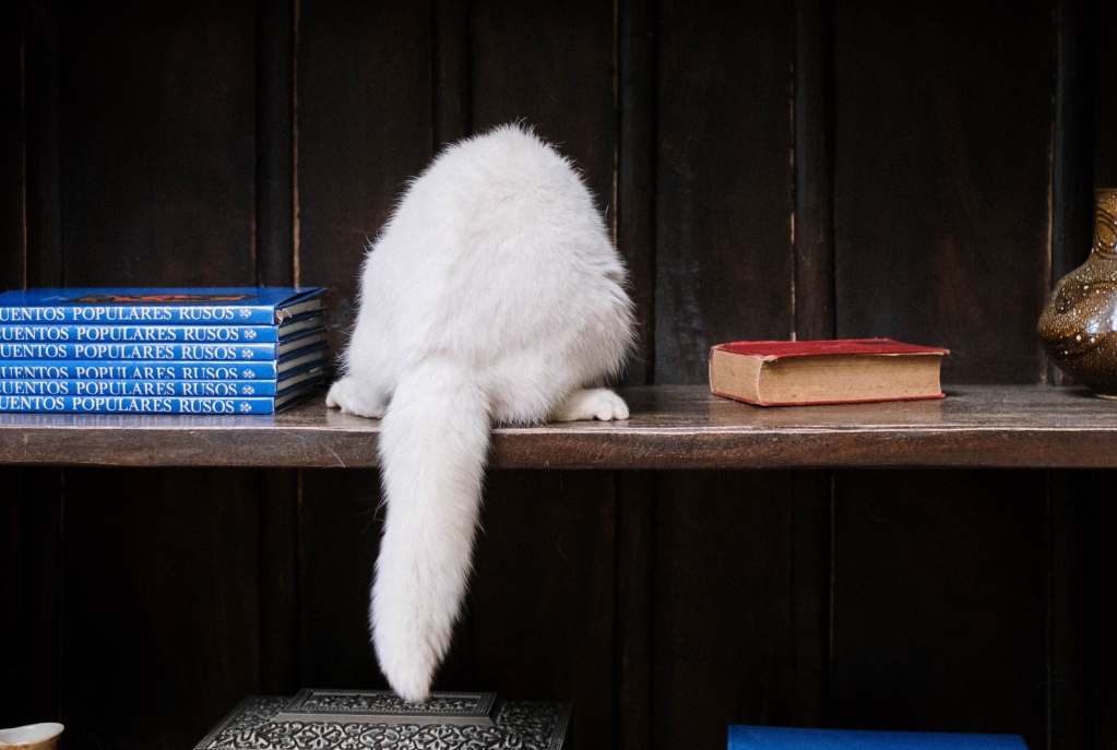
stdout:
<svg viewBox="0 0 1117 750">
<path fill-rule="evenodd" d="M 326 403 L 384 419 L 370 615 L 402 698 L 427 696 L 450 643 L 491 424 L 628 419 L 595 387 L 632 343 L 624 287 L 579 173 L 518 125 L 443 151 L 372 243 L 345 375 Z"/>
</svg>

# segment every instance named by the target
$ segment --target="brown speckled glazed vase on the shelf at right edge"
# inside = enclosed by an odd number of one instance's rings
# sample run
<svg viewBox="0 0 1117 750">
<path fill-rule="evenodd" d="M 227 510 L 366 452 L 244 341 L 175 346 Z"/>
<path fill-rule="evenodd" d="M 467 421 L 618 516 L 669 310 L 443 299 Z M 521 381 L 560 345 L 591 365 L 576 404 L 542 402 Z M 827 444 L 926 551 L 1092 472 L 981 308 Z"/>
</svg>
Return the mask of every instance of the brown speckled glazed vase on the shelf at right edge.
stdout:
<svg viewBox="0 0 1117 750">
<path fill-rule="evenodd" d="M 1096 192 L 1089 259 L 1054 288 L 1039 334 L 1059 369 L 1117 398 L 1117 189 Z"/>
</svg>

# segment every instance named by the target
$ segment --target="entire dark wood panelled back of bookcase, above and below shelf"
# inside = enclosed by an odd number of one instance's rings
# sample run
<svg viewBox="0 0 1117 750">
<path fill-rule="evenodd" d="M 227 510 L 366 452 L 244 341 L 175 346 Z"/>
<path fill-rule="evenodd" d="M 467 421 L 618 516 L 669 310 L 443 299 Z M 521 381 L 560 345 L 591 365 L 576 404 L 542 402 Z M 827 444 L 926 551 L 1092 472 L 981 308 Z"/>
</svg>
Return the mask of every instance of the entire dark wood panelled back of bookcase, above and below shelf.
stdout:
<svg viewBox="0 0 1117 750">
<path fill-rule="evenodd" d="M 628 258 L 628 381 L 891 335 L 1056 383 L 1033 334 L 1117 183 L 1117 9 L 10 2 L 0 286 L 327 285 L 440 144 L 523 117 Z M 771 722 L 1117 748 L 1111 474 L 494 472 L 439 686 L 588 748 Z M 0 470 L 0 725 L 192 747 L 248 693 L 381 685 L 366 471 Z"/>
</svg>

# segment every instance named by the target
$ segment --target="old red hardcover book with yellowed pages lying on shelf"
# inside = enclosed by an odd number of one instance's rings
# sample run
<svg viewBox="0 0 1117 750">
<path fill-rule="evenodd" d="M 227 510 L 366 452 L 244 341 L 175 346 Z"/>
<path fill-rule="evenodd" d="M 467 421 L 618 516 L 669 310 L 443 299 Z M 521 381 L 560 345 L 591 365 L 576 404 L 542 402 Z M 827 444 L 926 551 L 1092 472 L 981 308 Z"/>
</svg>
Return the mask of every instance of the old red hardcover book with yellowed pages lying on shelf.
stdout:
<svg viewBox="0 0 1117 750">
<path fill-rule="evenodd" d="M 758 406 L 942 398 L 947 354 L 890 338 L 733 342 L 709 350 L 709 390 Z"/>
</svg>

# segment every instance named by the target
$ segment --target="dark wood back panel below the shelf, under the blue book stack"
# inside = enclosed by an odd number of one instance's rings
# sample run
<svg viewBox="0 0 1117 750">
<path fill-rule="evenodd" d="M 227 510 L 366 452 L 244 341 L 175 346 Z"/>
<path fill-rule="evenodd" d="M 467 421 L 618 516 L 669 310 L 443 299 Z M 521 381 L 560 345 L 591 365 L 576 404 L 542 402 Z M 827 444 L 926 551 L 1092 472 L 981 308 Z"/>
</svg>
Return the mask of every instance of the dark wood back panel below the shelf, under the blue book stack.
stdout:
<svg viewBox="0 0 1117 750">
<path fill-rule="evenodd" d="M 67 744 L 193 747 L 258 691 L 255 477 L 80 470 L 66 483 Z"/>
</svg>

